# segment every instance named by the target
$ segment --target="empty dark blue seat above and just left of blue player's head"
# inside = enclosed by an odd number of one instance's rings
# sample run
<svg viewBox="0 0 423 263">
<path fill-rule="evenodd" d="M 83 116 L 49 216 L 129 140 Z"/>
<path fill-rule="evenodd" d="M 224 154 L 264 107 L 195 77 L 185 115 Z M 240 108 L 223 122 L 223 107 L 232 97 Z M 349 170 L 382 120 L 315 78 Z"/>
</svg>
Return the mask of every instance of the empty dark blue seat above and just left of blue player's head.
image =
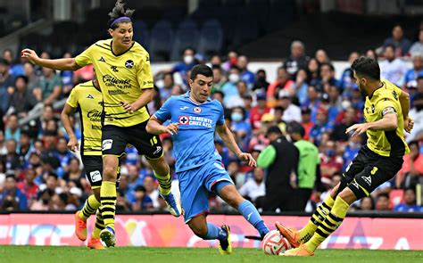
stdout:
<svg viewBox="0 0 423 263">
<path fill-rule="evenodd" d="M 175 34 L 175 40 L 170 53 L 170 61 L 178 61 L 180 54 L 187 47 L 195 48 L 198 42 L 198 29 L 194 21 L 182 21 Z"/>
</svg>

